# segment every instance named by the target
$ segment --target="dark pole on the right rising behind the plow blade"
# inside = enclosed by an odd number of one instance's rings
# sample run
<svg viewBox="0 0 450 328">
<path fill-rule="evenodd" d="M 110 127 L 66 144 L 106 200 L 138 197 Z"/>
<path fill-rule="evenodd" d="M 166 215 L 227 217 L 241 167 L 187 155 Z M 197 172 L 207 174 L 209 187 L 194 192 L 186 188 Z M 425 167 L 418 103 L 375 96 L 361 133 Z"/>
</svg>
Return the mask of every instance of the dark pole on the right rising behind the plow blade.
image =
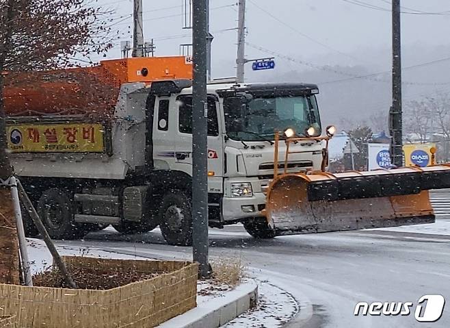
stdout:
<svg viewBox="0 0 450 328">
<path fill-rule="evenodd" d="M 389 112 L 391 121 L 391 162 L 403 166 L 403 132 L 401 110 L 401 18 L 400 0 L 392 1 L 392 97 L 393 103 Z"/>
</svg>

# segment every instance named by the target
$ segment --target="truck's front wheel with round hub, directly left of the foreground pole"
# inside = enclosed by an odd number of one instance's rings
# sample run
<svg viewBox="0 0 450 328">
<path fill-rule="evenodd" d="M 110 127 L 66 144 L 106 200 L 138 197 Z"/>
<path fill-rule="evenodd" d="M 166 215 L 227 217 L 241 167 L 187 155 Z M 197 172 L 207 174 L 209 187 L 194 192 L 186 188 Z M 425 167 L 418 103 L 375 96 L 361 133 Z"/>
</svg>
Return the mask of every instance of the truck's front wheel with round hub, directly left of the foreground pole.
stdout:
<svg viewBox="0 0 450 328">
<path fill-rule="evenodd" d="M 168 244 L 189 246 L 192 243 L 191 199 L 179 190 L 166 194 L 159 210 L 159 222 Z"/>
</svg>

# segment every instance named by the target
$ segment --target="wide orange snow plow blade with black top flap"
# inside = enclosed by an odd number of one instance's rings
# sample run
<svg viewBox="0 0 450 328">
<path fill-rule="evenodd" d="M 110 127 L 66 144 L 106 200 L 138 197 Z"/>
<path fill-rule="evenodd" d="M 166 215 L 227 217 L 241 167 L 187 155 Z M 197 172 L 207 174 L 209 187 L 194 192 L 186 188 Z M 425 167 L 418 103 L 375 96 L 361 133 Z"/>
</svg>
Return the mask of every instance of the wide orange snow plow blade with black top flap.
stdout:
<svg viewBox="0 0 450 328">
<path fill-rule="evenodd" d="M 284 173 L 267 190 L 277 235 L 434 223 L 428 190 L 450 188 L 450 165 L 371 172 Z"/>
</svg>

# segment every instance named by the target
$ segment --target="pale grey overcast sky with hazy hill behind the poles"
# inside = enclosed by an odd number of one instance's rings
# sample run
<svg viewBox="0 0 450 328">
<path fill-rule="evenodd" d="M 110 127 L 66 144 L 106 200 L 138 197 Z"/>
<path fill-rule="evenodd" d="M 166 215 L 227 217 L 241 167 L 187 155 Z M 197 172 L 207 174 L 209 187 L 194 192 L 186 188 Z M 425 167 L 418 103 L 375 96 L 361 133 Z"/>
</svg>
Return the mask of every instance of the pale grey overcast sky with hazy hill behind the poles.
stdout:
<svg viewBox="0 0 450 328">
<path fill-rule="evenodd" d="M 155 39 L 156 55 L 178 55 L 179 45 L 191 41 L 191 31 L 182 29 L 184 1 L 144 0 L 144 35 Z M 116 10 L 113 28 L 120 39 L 107 58 L 120 58 L 120 40 L 132 36 L 133 0 L 98 3 Z M 408 101 L 449 90 L 450 1 L 401 0 L 401 5 L 407 107 Z M 210 8 L 213 77 L 235 76 L 237 0 L 210 0 Z M 356 124 L 388 112 L 391 0 L 247 0 L 246 14 L 247 58 L 276 58 L 275 70 L 252 72 L 248 64 L 247 81 L 318 83 L 323 121 L 329 123 Z M 380 72 L 386 74 L 359 78 Z"/>
</svg>

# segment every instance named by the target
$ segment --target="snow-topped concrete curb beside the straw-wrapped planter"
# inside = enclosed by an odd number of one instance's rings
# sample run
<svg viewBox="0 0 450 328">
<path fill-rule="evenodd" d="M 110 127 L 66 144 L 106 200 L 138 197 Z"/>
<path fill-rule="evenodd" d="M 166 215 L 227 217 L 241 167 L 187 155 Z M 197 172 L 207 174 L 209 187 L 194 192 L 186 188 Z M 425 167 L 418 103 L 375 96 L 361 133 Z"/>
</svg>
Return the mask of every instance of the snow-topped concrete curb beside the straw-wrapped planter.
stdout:
<svg viewBox="0 0 450 328">
<path fill-rule="evenodd" d="M 256 299 L 257 283 L 246 281 L 234 290 L 226 292 L 224 297 L 200 303 L 196 308 L 162 323 L 157 328 L 218 328 L 249 310 L 256 303 Z"/>
</svg>

